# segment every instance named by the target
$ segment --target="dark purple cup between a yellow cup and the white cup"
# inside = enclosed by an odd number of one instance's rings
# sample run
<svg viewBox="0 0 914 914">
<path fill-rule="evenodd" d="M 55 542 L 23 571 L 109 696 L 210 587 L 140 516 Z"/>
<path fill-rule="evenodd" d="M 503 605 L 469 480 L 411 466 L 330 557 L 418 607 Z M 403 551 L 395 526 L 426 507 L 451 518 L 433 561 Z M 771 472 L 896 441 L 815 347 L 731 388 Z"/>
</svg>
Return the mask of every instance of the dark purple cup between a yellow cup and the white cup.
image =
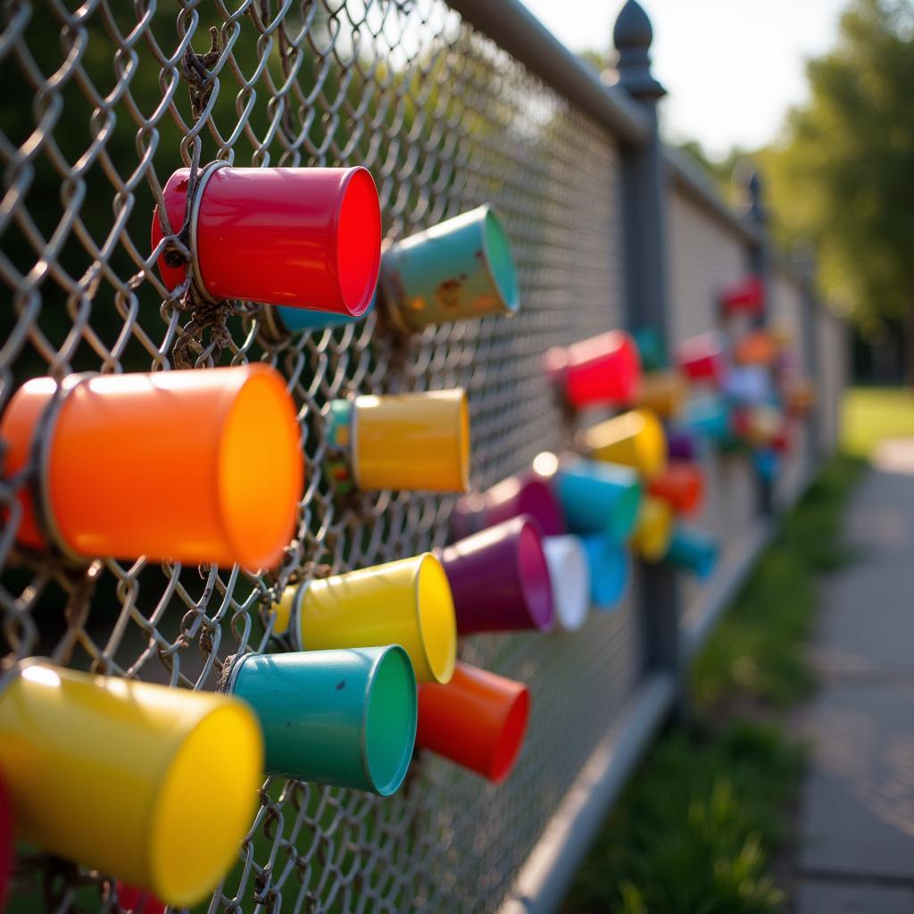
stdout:
<svg viewBox="0 0 914 914">
<path fill-rule="evenodd" d="M 547 632 L 555 624 L 542 532 L 513 517 L 441 550 L 457 632 Z"/>
</svg>

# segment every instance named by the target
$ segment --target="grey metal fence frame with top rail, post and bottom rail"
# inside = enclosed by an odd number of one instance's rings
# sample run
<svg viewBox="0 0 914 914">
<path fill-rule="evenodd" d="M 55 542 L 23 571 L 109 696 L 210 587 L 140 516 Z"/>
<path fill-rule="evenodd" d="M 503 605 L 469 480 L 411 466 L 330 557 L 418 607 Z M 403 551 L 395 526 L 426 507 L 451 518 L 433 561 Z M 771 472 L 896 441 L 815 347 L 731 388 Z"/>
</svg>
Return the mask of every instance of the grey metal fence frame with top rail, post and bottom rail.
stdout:
<svg viewBox="0 0 914 914">
<path fill-rule="evenodd" d="M 408 9 L 411 0 L 401 4 Z M 676 239 L 668 207 L 674 198 L 706 219 L 717 231 L 739 245 L 745 268 L 759 271 L 776 304 L 779 288 L 790 288 L 802 301 L 800 331 L 807 370 L 816 370 L 827 353 L 823 345 L 838 338 L 834 320 L 815 300 L 810 271 L 771 248 L 765 228 L 764 207 L 758 183 L 753 186 L 753 207 L 746 215 L 734 213 L 694 165 L 681 154 L 664 147 L 660 139 L 656 104 L 664 89 L 650 72 L 651 27 L 641 7 L 629 0 L 622 8 L 614 38 L 620 51 L 619 82 L 609 86 L 564 48 L 518 0 L 447 0 L 462 21 L 494 42 L 543 86 L 567 103 L 588 122 L 617 143 L 621 160 L 621 207 L 623 251 L 620 264 L 625 320 L 631 327 L 652 324 L 673 335 L 670 326 L 674 305 L 671 289 L 675 277 L 670 268 L 671 243 Z M 191 11 L 198 4 L 189 4 Z M 307 4 L 306 4 L 307 5 Z M 15 4 L 14 4 L 15 6 Z M 142 4 L 138 5 L 139 7 Z M 221 8 L 221 6 L 219 7 Z M 269 8 L 269 4 L 265 5 Z M 191 33 L 187 33 L 191 34 Z M 8 52 L 8 48 L 6 48 Z M 173 88 L 169 91 L 174 92 Z M 188 128 L 186 138 L 196 136 L 201 125 Z M 442 143 L 441 137 L 438 142 Z M 606 175 L 607 182 L 611 175 Z M 440 214 L 439 214 L 440 215 Z M 611 256 L 607 253 L 607 256 Z M 20 303 L 20 308 L 34 307 Z M 681 306 L 681 305 L 680 305 Z M 78 310 L 78 309 L 77 309 Z M 607 324 L 610 324 L 607 314 Z M 640 569 L 636 588 L 638 616 L 643 638 L 643 672 L 611 728 L 596 735 L 587 760 L 563 789 L 563 798 L 522 867 L 515 867 L 513 888 L 505 895 L 496 885 L 485 897 L 487 909 L 502 914 L 547 912 L 558 908 L 569 882 L 605 813 L 622 789 L 643 751 L 683 692 L 683 674 L 728 601 L 739 590 L 755 558 L 771 537 L 777 514 L 802 494 L 824 453 L 834 445 L 834 410 L 843 383 L 843 368 L 828 367 L 828 390 L 822 399 L 810 433 L 789 484 L 776 492 L 760 491 L 758 511 L 739 543 L 730 551 L 720 573 L 700 590 L 687 590 L 672 572 Z M 6 391 L 8 394 L 8 391 Z M 311 396 L 309 394 L 309 396 Z M 314 395 L 316 396 L 316 395 Z M 5 398 L 4 398 L 5 399 Z M 423 520 L 423 534 L 430 541 L 445 536 L 446 510 L 439 506 L 433 518 Z M 2 565 L 2 563 L 0 563 Z M 523 653 L 523 651 L 521 651 Z M 173 683 L 174 684 L 174 683 Z M 441 786 L 441 785 L 439 785 Z M 272 811 L 275 813 L 275 810 Z M 273 851 L 275 855 L 275 848 Z M 309 858 L 310 859 L 310 858 Z M 326 907 L 319 899 L 294 896 L 295 910 L 331 910 L 344 902 L 331 898 Z M 484 896 L 484 892 L 480 893 Z M 66 909 L 67 896 L 59 910 Z M 280 896 L 282 898 L 282 895 Z M 269 907 L 268 901 L 259 901 Z M 282 901 L 278 902 L 282 904 Z M 392 904 L 393 902 L 391 902 Z M 231 908 L 223 899 L 227 909 Z M 346 901 L 345 904 L 350 904 Z M 305 907 L 307 906 L 307 907 Z M 423 907 L 413 898 L 411 909 Z M 216 902 L 213 903 L 216 909 Z M 292 909 L 283 907 L 282 909 Z M 349 909 L 365 909 L 364 905 Z M 377 909 L 381 908 L 378 902 Z"/>
</svg>

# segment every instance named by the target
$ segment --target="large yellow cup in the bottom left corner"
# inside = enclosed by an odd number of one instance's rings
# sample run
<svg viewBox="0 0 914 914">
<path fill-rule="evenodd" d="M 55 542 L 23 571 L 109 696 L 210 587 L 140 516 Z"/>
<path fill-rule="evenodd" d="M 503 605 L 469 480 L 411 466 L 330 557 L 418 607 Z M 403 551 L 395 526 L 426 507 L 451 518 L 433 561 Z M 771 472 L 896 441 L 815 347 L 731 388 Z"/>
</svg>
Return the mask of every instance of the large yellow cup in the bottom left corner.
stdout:
<svg viewBox="0 0 914 914">
<path fill-rule="evenodd" d="M 23 840 L 186 907 L 238 855 L 263 741 L 232 698 L 33 663 L 0 695 L 0 769 Z"/>
</svg>

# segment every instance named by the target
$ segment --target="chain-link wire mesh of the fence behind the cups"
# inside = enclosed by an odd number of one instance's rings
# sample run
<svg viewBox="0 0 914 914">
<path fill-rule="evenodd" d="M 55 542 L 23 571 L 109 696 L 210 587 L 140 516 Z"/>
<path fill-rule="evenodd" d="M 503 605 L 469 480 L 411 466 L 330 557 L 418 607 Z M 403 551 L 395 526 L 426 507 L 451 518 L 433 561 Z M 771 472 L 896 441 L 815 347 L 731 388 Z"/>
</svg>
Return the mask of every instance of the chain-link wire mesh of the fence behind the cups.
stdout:
<svg viewBox="0 0 914 914">
<path fill-rule="evenodd" d="M 350 390 L 467 388 L 476 488 L 565 443 L 539 358 L 550 345 L 637 323 L 623 175 L 653 133 L 637 104 L 601 87 L 513 2 L 249 0 L 236 8 L 181 0 L 178 7 L 12 0 L 0 8 L 0 276 L 11 302 L 0 316 L 0 407 L 27 377 L 173 367 L 190 315 L 148 260 L 149 225 L 168 175 L 195 154 L 235 165 L 367 165 L 391 238 L 492 202 L 522 290 L 513 320 L 444 325 L 409 339 L 376 334 L 370 316 L 271 342 L 258 306 L 245 305 L 228 317 L 227 335 L 207 331 L 202 343 L 191 341 L 203 369 L 270 362 L 301 408 L 307 482 L 299 536 L 269 577 L 106 558 L 73 569 L 17 550 L 16 530 L 5 526 L 7 661 L 44 654 L 207 689 L 229 654 L 275 647 L 264 609 L 293 573 L 309 573 L 308 563 L 353 569 L 446 540 L 450 497 L 382 493 L 335 502 L 322 470 L 328 399 Z M 190 48 L 207 51 L 210 28 L 211 77 L 197 91 L 195 117 L 182 59 Z M 716 326 L 717 292 L 744 275 L 763 232 L 728 213 L 674 156 L 660 167 L 667 323 L 680 338 Z M 653 256 L 663 271 L 662 244 Z M 778 482 L 787 504 L 816 455 L 834 444 L 844 369 L 840 331 L 813 303 L 802 271 L 780 256 L 769 262 L 771 308 L 791 324 L 820 390 L 814 436 L 798 442 Z M 748 462 L 708 461 L 700 523 L 726 551 L 715 579 L 680 590 L 683 654 L 769 528 Z M 13 504 L 20 484 L 0 483 L 0 508 Z M 129 491 L 123 505 L 131 510 Z M 208 909 L 547 909 L 674 697 L 675 664 L 647 662 L 654 618 L 636 587 L 578 634 L 467 641 L 466 659 L 532 690 L 530 732 L 511 780 L 492 788 L 423 756 L 388 800 L 268 781 L 239 864 Z M 188 789 L 205 792 L 206 772 Z M 210 814 L 218 819 L 218 796 Z M 21 863 L 24 890 L 33 894 L 14 898 L 14 911 L 17 903 L 68 910 L 78 897 L 80 909 L 116 905 L 103 876 L 39 856 Z"/>
</svg>

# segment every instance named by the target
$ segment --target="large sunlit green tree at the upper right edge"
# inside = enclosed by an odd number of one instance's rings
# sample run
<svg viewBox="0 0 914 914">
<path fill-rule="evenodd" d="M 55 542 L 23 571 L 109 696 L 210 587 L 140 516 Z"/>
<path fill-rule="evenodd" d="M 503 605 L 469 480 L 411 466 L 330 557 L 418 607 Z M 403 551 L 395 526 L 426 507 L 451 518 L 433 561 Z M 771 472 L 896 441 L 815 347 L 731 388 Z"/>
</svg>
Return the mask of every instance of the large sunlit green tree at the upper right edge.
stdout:
<svg viewBox="0 0 914 914">
<path fill-rule="evenodd" d="M 914 2 L 855 0 L 810 101 L 757 156 L 776 238 L 812 239 L 823 291 L 861 324 L 907 322 L 914 382 Z"/>
</svg>

